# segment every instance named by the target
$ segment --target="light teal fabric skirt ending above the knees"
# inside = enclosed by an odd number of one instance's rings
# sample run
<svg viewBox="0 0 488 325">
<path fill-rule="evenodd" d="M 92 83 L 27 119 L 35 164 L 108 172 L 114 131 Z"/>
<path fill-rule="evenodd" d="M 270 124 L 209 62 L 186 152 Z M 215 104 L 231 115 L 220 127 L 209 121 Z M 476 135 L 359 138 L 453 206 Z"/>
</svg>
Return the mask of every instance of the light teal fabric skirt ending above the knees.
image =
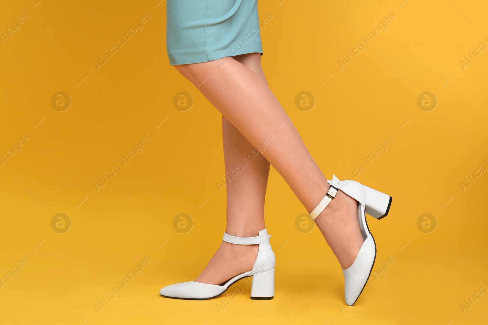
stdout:
<svg viewBox="0 0 488 325">
<path fill-rule="evenodd" d="M 169 64 L 261 53 L 257 0 L 167 0 Z"/>
</svg>

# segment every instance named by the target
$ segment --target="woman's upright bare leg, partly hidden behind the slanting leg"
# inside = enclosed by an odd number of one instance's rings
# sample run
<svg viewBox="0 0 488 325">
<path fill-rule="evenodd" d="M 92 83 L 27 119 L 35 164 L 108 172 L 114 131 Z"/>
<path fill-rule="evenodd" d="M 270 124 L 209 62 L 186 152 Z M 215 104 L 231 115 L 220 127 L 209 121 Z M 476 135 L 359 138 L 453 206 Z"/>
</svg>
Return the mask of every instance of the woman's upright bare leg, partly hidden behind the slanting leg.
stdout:
<svg viewBox="0 0 488 325">
<path fill-rule="evenodd" d="M 265 83 L 259 61 L 252 55 L 234 57 Z M 227 185 L 227 227 L 225 232 L 237 237 L 254 237 L 264 229 L 264 195 L 269 163 L 227 118 L 222 116 L 225 172 Z M 254 154 L 253 154 L 254 153 Z M 237 168 L 239 166 L 239 168 Z M 224 190 L 224 189 L 223 189 Z M 258 256 L 259 245 L 235 245 L 222 242 L 207 267 L 195 280 L 219 285 L 237 274 L 249 271 Z"/>
</svg>

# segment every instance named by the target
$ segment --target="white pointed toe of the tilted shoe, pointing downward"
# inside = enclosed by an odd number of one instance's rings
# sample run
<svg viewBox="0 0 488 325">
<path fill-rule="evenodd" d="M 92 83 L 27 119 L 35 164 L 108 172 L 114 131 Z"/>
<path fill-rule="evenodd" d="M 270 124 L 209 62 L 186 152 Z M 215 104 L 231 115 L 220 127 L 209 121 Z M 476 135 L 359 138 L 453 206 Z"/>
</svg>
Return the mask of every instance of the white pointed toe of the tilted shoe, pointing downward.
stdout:
<svg viewBox="0 0 488 325">
<path fill-rule="evenodd" d="M 359 250 L 354 263 L 344 273 L 344 295 L 348 306 L 354 305 L 366 286 L 374 264 L 376 246 L 372 236 L 368 236 Z"/>
</svg>

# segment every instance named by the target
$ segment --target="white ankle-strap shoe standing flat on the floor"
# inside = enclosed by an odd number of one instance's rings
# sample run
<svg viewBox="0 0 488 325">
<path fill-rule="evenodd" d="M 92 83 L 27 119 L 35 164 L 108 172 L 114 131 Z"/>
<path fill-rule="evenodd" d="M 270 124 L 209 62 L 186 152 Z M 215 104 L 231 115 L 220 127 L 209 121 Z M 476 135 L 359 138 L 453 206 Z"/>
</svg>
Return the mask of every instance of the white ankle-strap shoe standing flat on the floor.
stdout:
<svg viewBox="0 0 488 325">
<path fill-rule="evenodd" d="M 259 232 L 256 237 L 235 237 L 224 232 L 223 240 L 227 243 L 238 245 L 259 244 L 258 257 L 254 267 L 247 272 L 241 273 L 226 281 L 222 286 L 210 285 L 195 281 L 182 282 L 163 287 L 159 294 L 166 298 L 204 300 L 211 299 L 223 294 L 237 281 L 252 276 L 251 299 L 273 299 L 274 297 L 274 267 L 275 255 L 266 229 Z"/>
</svg>

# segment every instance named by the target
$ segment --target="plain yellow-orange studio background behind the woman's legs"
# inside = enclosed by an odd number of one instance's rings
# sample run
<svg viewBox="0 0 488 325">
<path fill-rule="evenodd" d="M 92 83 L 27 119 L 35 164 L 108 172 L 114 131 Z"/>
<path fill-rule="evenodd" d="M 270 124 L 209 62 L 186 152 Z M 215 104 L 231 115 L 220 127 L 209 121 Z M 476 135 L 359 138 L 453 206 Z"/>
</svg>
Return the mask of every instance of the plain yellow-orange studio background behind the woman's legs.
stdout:
<svg viewBox="0 0 488 325">
<path fill-rule="evenodd" d="M 0 45 L 0 153 L 29 137 L 0 167 L 0 275 L 29 259 L 0 288 L 1 324 L 488 323 L 487 293 L 460 307 L 488 289 L 487 172 L 460 186 L 488 168 L 487 50 L 464 70 L 459 62 L 488 45 L 486 3 L 259 1 L 260 18 L 273 16 L 261 33 L 269 86 L 328 178 L 343 179 L 395 136 L 356 178 L 393 196 L 389 215 L 368 221 L 374 270 L 394 263 L 344 309 L 339 263 L 318 229 L 295 228 L 306 211 L 272 169 L 275 299 L 250 300 L 247 287 L 219 313 L 220 298 L 159 296 L 195 279 L 225 229 L 221 115 L 169 66 L 166 1 L 36 2 L 0 10 L 0 31 L 29 15 Z M 143 29 L 97 70 L 94 60 L 146 12 Z M 341 70 L 338 60 L 390 12 L 387 29 Z M 51 106 L 58 91 L 72 100 L 64 112 Z M 172 104 L 181 91 L 194 100 L 187 112 Z M 295 106 L 302 91 L 316 100 L 308 112 Z M 424 91 L 438 100 L 430 112 L 417 106 Z M 143 151 L 97 192 L 93 183 L 145 134 Z M 57 213 L 71 220 L 65 233 L 51 228 Z M 187 233 L 173 228 L 179 213 L 193 220 Z M 437 221 L 433 232 L 417 227 L 423 213 Z M 93 305 L 145 256 L 143 273 L 97 314 Z"/>
</svg>

